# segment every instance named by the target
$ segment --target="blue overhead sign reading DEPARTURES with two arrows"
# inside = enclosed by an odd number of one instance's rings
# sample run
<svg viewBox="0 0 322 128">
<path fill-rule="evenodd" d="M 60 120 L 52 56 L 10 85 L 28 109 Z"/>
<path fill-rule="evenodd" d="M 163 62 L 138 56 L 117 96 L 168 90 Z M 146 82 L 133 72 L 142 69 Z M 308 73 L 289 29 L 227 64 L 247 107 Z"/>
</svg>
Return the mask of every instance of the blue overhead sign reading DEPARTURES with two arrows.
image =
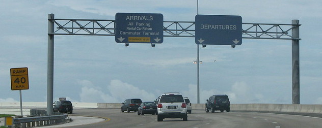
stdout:
<svg viewBox="0 0 322 128">
<path fill-rule="evenodd" d="M 196 15 L 195 43 L 241 45 L 241 16 Z"/>
</svg>

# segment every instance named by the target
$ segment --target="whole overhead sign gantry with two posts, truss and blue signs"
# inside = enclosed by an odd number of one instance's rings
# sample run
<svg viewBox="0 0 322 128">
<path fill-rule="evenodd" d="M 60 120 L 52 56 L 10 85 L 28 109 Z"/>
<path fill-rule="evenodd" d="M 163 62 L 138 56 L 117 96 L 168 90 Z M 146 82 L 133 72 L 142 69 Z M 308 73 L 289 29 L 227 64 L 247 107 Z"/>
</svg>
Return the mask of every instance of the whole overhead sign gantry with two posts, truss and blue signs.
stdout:
<svg viewBox="0 0 322 128">
<path fill-rule="evenodd" d="M 125 15 L 133 14 L 133 13 L 120 13 L 118 14 L 119 18 L 125 18 Z M 134 13 L 137 17 L 132 18 L 132 21 L 121 21 L 118 22 L 118 18 L 116 20 L 97 20 L 97 19 L 57 19 L 54 14 L 48 15 L 48 73 L 47 73 L 47 112 L 48 114 L 52 114 L 52 99 L 53 99 L 53 39 L 54 35 L 87 35 L 87 36 L 115 36 L 115 41 L 118 43 L 162 43 L 163 37 L 192 37 L 195 38 L 196 44 L 212 44 L 208 42 L 211 36 L 202 37 L 203 34 L 207 33 L 206 31 L 199 31 L 197 29 L 201 29 L 201 24 L 209 24 L 205 27 L 215 27 L 216 24 L 208 23 L 205 21 L 204 16 L 196 16 L 196 22 L 194 21 L 163 21 L 155 20 L 155 17 L 159 17 L 160 14 L 151 14 L 153 16 L 153 20 L 150 20 L 148 14 L 137 14 Z M 212 16 L 210 16 L 212 17 Z M 216 16 L 214 16 L 216 17 Z M 227 28 L 232 29 L 235 33 L 230 33 L 231 38 L 226 38 L 227 40 L 222 40 L 222 42 L 228 42 L 227 44 L 219 44 L 221 45 L 240 45 L 241 38 L 243 39 L 274 39 L 274 40 L 291 40 L 292 41 L 292 103 L 300 104 L 300 68 L 299 68 L 299 20 L 292 20 L 291 24 L 272 24 L 272 23 L 241 23 L 241 17 L 230 17 L 232 19 L 222 19 L 223 21 L 227 21 Z M 140 20 L 139 20 L 140 19 Z M 151 23 L 151 26 L 155 24 L 159 24 L 159 22 L 163 21 L 163 25 L 156 25 L 152 27 L 148 27 L 147 33 L 151 33 L 151 36 L 144 35 L 133 35 L 134 33 L 122 33 L 120 31 L 125 31 L 128 29 L 129 32 L 136 31 L 136 33 L 143 33 L 142 29 L 140 31 L 137 30 L 135 23 L 141 22 L 142 19 L 144 23 Z M 148 20 L 149 19 L 149 20 Z M 211 18 L 210 18 L 211 19 Z M 198 21 L 200 20 L 200 21 Z M 223 22 L 220 20 L 220 22 Z M 133 23 L 132 23 L 133 22 Z M 143 21 L 142 21 L 143 22 Z M 241 23 L 241 24 L 240 24 Z M 195 25 L 200 26 L 200 28 L 195 28 Z M 240 27 L 239 27 L 240 24 Z M 118 29 L 118 25 L 123 25 L 125 28 Z M 139 24 L 138 24 L 139 25 Z M 232 25 L 232 26 L 231 26 Z M 236 26 L 234 26 L 236 25 Z M 56 26 L 56 27 L 55 27 Z M 163 26 L 160 28 L 160 26 Z M 244 28 L 241 28 L 243 26 Z M 121 27 L 121 26 L 120 26 Z M 126 28 L 129 27 L 129 28 Z M 132 27 L 132 28 L 130 28 Z M 139 26 L 141 27 L 141 26 Z M 146 27 L 146 26 L 142 26 Z M 219 26 L 218 26 L 219 27 Z M 225 26 L 226 28 L 226 26 Z M 236 28 L 236 29 L 235 29 Z M 138 28 L 139 29 L 139 28 Z M 153 31 L 156 30 L 156 31 Z M 162 31 L 160 31 L 162 30 Z M 153 35 L 153 33 L 159 33 L 159 37 Z M 219 33 L 218 31 L 210 31 L 210 33 Z M 238 34 L 237 34 L 238 33 Z M 201 34 L 201 35 L 200 35 Z M 240 35 L 239 35 L 240 34 Z M 243 37 L 241 37 L 241 35 Z M 121 37 L 122 36 L 122 37 Z M 213 36 L 213 35 L 212 35 Z M 131 38 L 129 40 L 129 37 Z M 148 38 L 150 41 L 148 41 Z M 209 38 L 209 39 L 208 39 Z M 218 40 L 221 37 L 217 37 Z M 120 40 L 119 40 L 120 39 Z M 159 39 L 159 41 L 154 40 Z M 199 42 L 199 41 L 200 42 Z M 204 40 L 204 41 L 202 41 Z M 138 41 L 138 42 L 136 42 Z M 207 43 L 208 42 L 208 43 Z M 230 42 L 230 43 L 229 43 Z M 153 45 L 152 45 L 153 46 Z"/>
</svg>

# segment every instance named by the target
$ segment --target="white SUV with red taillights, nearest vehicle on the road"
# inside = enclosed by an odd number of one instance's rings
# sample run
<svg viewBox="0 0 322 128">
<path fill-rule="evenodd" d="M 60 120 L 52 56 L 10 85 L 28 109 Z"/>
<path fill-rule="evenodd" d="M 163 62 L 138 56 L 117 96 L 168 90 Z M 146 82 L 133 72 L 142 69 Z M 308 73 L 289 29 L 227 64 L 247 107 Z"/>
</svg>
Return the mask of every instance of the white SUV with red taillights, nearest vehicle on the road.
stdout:
<svg viewBox="0 0 322 128">
<path fill-rule="evenodd" d="M 182 94 L 178 92 L 168 92 L 160 96 L 157 105 L 157 121 L 164 118 L 183 118 L 187 121 L 187 109 Z"/>
</svg>

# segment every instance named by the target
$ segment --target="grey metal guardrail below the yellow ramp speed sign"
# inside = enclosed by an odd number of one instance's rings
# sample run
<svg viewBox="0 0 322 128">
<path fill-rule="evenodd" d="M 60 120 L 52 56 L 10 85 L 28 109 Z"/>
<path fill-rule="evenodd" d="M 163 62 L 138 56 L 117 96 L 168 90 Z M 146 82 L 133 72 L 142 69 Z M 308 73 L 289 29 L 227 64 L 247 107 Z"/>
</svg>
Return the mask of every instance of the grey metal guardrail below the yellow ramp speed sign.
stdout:
<svg viewBox="0 0 322 128">
<path fill-rule="evenodd" d="M 55 115 L 47 115 L 45 110 L 31 110 L 31 115 L 36 117 L 15 116 L 13 119 L 14 127 L 35 127 L 61 123 L 68 117 L 64 113 L 54 113 Z"/>
</svg>

